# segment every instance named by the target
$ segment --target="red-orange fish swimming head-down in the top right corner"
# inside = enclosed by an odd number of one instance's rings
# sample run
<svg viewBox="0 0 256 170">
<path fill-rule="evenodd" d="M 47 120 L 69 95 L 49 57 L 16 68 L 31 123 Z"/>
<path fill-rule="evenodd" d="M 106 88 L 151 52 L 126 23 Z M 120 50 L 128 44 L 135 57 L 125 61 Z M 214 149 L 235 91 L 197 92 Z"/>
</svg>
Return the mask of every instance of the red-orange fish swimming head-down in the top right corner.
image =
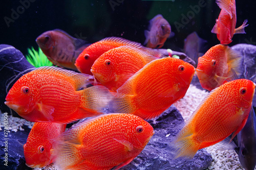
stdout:
<svg viewBox="0 0 256 170">
<path fill-rule="evenodd" d="M 246 25 L 247 19 L 242 26 L 236 28 L 236 1 L 216 0 L 216 3 L 220 7 L 221 12 L 211 32 L 217 34 L 217 38 L 221 41 L 221 44 L 227 45 L 232 42 L 234 34 L 245 34 L 244 28 L 248 26 Z"/>
</svg>

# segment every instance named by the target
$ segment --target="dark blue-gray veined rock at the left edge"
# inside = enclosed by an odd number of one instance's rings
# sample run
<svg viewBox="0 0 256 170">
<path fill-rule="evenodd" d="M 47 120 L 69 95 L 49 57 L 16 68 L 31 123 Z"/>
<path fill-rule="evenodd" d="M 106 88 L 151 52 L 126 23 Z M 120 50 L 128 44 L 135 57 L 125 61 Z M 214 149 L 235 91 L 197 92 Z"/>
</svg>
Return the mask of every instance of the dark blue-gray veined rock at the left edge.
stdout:
<svg viewBox="0 0 256 170">
<path fill-rule="evenodd" d="M 34 68 L 35 67 L 27 61 L 22 52 L 15 47 L 0 44 L 0 110 L 3 112 L 11 112 L 14 116 L 18 116 L 17 113 L 4 104 L 5 98 L 13 84 Z"/>
</svg>

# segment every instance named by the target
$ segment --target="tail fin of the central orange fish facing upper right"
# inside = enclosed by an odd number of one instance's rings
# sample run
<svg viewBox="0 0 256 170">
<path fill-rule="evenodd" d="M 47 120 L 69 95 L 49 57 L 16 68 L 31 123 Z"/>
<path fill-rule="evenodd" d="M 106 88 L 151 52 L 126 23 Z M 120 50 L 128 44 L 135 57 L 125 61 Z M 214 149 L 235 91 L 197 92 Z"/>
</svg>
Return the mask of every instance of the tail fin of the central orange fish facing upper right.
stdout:
<svg viewBox="0 0 256 170">
<path fill-rule="evenodd" d="M 112 100 L 110 106 L 115 113 L 134 113 L 136 106 L 133 103 L 135 95 L 116 93 L 115 98 Z"/>
</svg>

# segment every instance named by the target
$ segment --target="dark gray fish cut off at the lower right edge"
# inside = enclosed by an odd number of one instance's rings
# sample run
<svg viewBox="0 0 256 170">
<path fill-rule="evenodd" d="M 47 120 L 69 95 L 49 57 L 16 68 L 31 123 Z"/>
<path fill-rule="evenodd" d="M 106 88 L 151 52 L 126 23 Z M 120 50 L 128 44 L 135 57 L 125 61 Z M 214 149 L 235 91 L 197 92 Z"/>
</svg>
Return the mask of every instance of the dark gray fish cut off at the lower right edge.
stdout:
<svg viewBox="0 0 256 170">
<path fill-rule="evenodd" d="M 237 144 L 230 138 L 220 144 L 222 149 L 231 149 L 237 152 L 241 165 L 246 170 L 253 170 L 256 166 L 256 116 L 251 107 L 250 114 L 244 128 L 237 135 Z"/>
</svg>

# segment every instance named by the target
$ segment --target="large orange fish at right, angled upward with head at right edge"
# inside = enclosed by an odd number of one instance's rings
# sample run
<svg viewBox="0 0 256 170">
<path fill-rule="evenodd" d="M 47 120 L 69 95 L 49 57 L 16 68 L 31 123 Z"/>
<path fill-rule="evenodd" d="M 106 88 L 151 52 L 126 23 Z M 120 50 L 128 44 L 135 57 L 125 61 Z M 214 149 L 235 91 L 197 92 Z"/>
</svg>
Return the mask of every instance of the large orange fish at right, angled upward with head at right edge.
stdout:
<svg viewBox="0 0 256 170">
<path fill-rule="evenodd" d="M 189 160 L 198 150 L 224 140 L 232 132 L 232 138 L 236 136 L 246 124 L 255 85 L 238 79 L 212 90 L 170 144 L 175 145 L 172 156 Z"/>
</svg>

